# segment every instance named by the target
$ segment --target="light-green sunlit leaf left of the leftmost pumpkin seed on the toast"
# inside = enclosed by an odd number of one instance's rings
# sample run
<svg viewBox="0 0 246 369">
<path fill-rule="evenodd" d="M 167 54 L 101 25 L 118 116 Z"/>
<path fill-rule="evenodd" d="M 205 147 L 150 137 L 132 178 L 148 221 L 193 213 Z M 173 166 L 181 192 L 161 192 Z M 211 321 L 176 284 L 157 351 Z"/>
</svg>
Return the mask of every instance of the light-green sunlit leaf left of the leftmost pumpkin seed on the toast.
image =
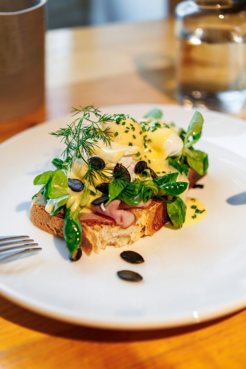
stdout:
<svg viewBox="0 0 246 369">
<path fill-rule="evenodd" d="M 67 177 L 65 173 L 56 169 L 49 177 L 44 190 L 46 199 L 57 199 L 58 197 L 67 195 L 66 188 L 68 187 Z"/>
</svg>

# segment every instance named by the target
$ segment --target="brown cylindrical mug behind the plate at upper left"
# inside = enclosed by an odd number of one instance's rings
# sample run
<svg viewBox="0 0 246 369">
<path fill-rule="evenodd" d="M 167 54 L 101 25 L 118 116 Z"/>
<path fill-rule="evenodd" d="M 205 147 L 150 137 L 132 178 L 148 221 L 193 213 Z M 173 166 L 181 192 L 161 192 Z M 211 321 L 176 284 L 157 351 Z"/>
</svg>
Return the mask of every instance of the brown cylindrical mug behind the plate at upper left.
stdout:
<svg viewBox="0 0 246 369">
<path fill-rule="evenodd" d="M 46 0 L 0 0 L 0 121 L 44 103 Z"/>
</svg>

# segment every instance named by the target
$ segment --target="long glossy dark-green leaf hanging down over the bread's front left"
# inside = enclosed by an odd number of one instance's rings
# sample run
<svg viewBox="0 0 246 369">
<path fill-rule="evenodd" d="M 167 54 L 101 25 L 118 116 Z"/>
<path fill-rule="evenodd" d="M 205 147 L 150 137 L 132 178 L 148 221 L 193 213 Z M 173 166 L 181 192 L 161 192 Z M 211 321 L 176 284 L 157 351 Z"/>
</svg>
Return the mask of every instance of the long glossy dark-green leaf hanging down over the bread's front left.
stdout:
<svg viewBox="0 0 246 369">
<path fill-rule="evenodd" d="M 81 244 L 82 225 L 79 221 L 80 207 L 76 211 L 70 212 L 70 208 L 66 209 L 64 222 L 64 238 L 67 248 L 73 254 Z"/>
</svg>

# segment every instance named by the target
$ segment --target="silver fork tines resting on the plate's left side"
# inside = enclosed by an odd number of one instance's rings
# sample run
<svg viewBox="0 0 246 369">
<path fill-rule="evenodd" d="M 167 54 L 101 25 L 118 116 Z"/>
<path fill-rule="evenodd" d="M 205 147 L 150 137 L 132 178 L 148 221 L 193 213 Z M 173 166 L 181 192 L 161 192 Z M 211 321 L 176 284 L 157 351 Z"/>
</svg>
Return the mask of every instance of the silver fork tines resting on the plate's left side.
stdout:
<svg viewBox="0 0 246 369">
<path fill-rule="evenodd" d="M 33 244 L 33 239 L 29 239 L 29 236 L 4 236 L 0 237 L 0 262 L 7 260 L 15 256 L 21 256 L 29 254 L 35 251 L 41 251 L 41 247 L 37 247 L 38 244 Z M 5 255 L 1 257 L 1 255 Z M 10 255 L 9 255 L 10 254 Z"/>
</svg>

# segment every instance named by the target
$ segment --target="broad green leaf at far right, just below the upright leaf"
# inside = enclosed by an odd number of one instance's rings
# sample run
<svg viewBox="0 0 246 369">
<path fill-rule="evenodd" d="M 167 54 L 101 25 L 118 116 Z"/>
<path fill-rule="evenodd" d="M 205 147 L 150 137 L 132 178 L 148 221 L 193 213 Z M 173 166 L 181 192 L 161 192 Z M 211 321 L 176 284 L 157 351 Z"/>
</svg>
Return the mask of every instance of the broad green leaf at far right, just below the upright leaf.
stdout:
<svg viewBox="0 0 246 369">
<path fill-rule="evenodd" d="M 203 176 L 208 169 L 208 155 L 205 152 L 184 148 L 184 154 L 188 165 L 193 168 L 200 176 Z"/>
</svg>

